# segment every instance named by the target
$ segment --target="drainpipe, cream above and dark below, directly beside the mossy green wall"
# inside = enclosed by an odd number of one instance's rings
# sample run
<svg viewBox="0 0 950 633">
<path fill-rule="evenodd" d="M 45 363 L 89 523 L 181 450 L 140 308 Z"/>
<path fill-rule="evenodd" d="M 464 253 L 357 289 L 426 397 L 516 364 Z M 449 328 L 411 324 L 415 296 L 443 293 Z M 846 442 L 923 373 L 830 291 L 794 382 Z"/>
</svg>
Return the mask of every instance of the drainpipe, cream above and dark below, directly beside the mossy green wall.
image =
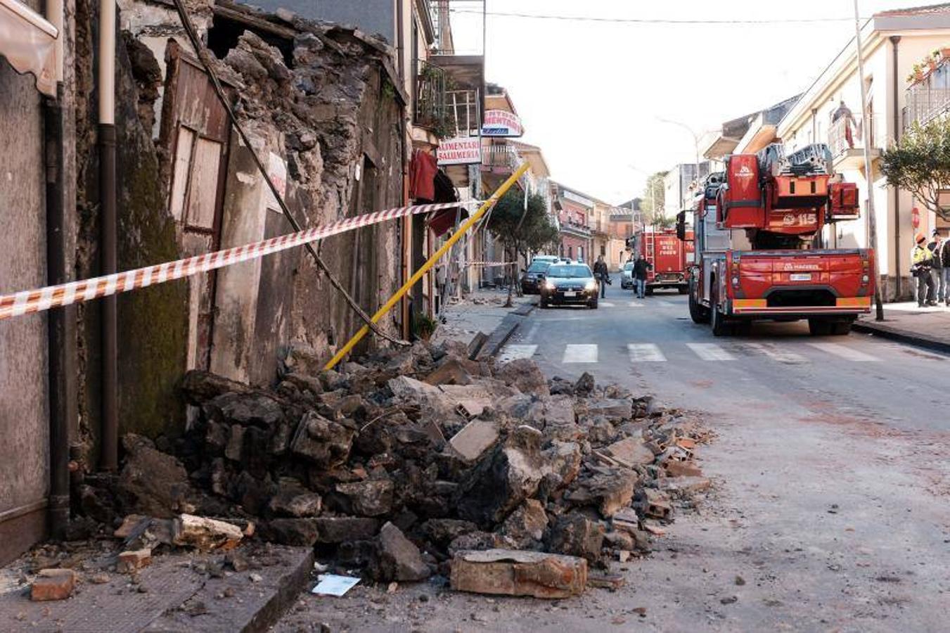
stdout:
<svg viewBox="0 0 950 633">
<path fill-rule="evenodd" d="M 99 200 L 102 274 L 116 272 L 116 128 L 115 128 L 115 0 L 102 0 L 99 9 Z M 119 466 L 118 318 L 116 297 L 104 297 L 103 306 L 103 424 L 102 470 Z"/>
</svg>

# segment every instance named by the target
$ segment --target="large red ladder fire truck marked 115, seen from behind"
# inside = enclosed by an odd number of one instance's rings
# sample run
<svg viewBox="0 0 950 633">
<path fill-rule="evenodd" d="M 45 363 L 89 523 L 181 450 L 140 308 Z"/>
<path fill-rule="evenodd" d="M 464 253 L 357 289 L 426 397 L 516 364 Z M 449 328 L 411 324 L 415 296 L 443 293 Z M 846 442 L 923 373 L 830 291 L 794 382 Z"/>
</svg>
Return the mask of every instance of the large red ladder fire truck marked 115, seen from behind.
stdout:
<svg viewBox="0 0 950 633">
<path fill-rule="evenodd" d="M 824 144 L 788 156 L 771 144 L 727 157 L 726 171 L 707 178 L 691 213 L 693 321 L 723 336 L 755 319 L 807 318 L 813 335 L 846 335 L 870 312 L 874 251 L 816 247 L 826 224 L 859 217 L 857 185 L 830 165 Z M 689 240 L 686 215 L 677 217 L 680 240 Z"/>
</svg>

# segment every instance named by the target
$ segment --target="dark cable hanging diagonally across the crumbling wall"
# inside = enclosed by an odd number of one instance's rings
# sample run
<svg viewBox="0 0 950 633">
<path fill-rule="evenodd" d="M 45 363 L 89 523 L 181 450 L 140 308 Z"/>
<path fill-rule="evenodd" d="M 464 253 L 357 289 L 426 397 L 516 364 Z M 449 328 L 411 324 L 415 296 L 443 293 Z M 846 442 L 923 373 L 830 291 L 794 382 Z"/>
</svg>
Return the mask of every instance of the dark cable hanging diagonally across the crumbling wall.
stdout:
<svg viewBox="0 0 950 633">
<path fill-rule="evenodd" d="M 284 201 L 284 197 L 277 191 L 274 182 L 271 182 L 270 177 L 267 175 L 267 168 L 264 167 L 264 163 L 261 162 L 260 157 L 257 155 L 254 145 L 251 144 L 251 139 L 247 136 L 243 126 L 237 121 L 237 115 L 235 114 L 234 109 L 231 107 L 231 103 L 228 101 L 227 95 L 224 93 L 224 88 L 221 86 L 220 80 L 218 80 L 218 74 L 208 61 L 208 49 L 200 41 L 198 31 L 195 29 L 195 25 L 192 23 L 191 17 L 188 15 L 188 11 L 184 7 L 183 0 L 174 1 L 175 9 L 178 11 L 179 19 L 181 20 L 181 26 L 184 28 L 185 34 L 188 36 L 188 41 L 191 42 L 192 48 L 194 48 L 195 52 L 198 54 L 201 66 L 204 67 L 204 71 L 208 73 L 208 77 L 211 79 L 211 85 L 215 88 L 215 94 L 218 96 L 218 101 L 227 112 L 228 118 L 231 120 L 231 125 L 234 125 L 235 129 L 237 130 L 237 135 L 240 136 L 241 141 L 251 153 L 251 158 L 257 165 L 257 170 L 260 171 L 261 175 L 264 177 L 264 182 L 267 182 L 267 186 L 274 195 L 277 204 L 280 205 L 280 211 L 283 213 L 284 218 L 290 222 L 295 231 L 300 231 L 300 223 L 296 221 L 294 215 L 291 213 L 290 208 L 288 208 L 287 203 Z M 314 258 L 314 262 L 316 263 L 317 267 L 323 271 L 324 274 L 326 274 L 328 279 L 330 279 L 330 283 L 333 285 L 333 288 L 335 288 L 346 299 L 353 312 L 363 319 L 363 321 L 367 324 L 367 326 L 369 326 L 375 335 L 381 336 L 396 345 L 409 346 L 410 343 L 408 341 L 400 340 L 394 336 L 390 336 L 379 329 L 379 326 L 371 320 L 370 316 L 366 314 L 362 308 L 359 307 L 359 304 L 357 304 L 353 297 L 351 297 L 350 293 L 347 292 L 347 290 L 343 287 L 343 284 L 340 283 L 339 279 L 333 275 L 333 272 L 327 266 L 326 262 L 320 258 L 320 255 L 316 252 L 316 249 L 314 249 L 313 244 L 305 244 L 304 247 Z"/>
</svg>

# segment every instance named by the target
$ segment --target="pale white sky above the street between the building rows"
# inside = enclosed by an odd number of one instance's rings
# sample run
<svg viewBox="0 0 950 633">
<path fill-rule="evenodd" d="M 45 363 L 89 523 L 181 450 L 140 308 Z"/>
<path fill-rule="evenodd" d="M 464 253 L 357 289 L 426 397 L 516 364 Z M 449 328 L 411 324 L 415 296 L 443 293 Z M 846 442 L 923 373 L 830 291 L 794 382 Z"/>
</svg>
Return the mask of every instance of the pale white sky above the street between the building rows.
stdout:
<svg viewBox="0 0 950 633">
<path fill-rule="evenodd" d="M 936 2 L 936 0 L 934 0 Z M 554 180 L 604 201 L 639 196 L 644 175 L 693 163 L 693 136 L 803 92 L 854 35 L 853 0 L 486 0 L 485 79 L 507 88 L 523 141 Z M 860 0 L 862 17 L 927 0 Z M 450 0 L 459 52 L 481 49 L 479 2 Z M 491 12 L 797 24 L 633 24 Z M 474 18 L 474 19 L 473 19 Z M 837 19 L 835 19 L 837 18 Z M 632 166 L 631 166 L 632 165 Z M 636 168 L 636 169 L 635 169 Z"/>
</svg>

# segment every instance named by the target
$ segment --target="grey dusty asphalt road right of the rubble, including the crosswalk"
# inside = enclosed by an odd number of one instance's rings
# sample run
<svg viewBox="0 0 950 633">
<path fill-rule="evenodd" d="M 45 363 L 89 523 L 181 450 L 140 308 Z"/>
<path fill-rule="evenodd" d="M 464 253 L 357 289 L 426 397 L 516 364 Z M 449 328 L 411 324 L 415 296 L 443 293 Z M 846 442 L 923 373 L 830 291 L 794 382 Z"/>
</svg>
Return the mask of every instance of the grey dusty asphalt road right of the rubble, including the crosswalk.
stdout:
<svg viewBox="0 0 950 633">
<path fill-rule="evenodd" d="M 503 354 L 654 394 L 717 434 L 700 451 L 712 500 L 629 568 L 632 590 L 595 599 L 595 614 L 525 613 L 506 628 L 602 630 L 647 606 L 631 623 L 947 630 L 950 358 L 813 337 L 807 323 L 717 338 L 689 319 L 686 297 L 636 300 L 617 282 L 596 311 L 535 310 Z"/>
</svg>

